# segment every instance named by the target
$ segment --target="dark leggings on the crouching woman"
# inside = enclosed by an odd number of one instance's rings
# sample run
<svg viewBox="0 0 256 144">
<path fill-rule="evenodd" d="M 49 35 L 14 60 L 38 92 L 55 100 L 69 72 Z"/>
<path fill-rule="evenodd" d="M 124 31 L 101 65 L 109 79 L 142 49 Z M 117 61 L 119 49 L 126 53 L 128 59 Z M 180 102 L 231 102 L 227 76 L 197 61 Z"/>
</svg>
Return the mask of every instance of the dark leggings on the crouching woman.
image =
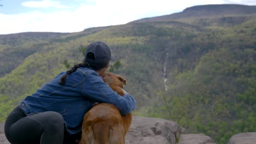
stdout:
<svg viewBox="0 0 256 144">
<path fill-rule="evenodd" d="M 65 143 L 75 143 L 73 137 L 64 131 L 63 117 L 54 111 L 26 116 L 17 106 L 6 119 L 4 132 L 12 144 L 62 144 L 63 138 Z"/>
</svg>

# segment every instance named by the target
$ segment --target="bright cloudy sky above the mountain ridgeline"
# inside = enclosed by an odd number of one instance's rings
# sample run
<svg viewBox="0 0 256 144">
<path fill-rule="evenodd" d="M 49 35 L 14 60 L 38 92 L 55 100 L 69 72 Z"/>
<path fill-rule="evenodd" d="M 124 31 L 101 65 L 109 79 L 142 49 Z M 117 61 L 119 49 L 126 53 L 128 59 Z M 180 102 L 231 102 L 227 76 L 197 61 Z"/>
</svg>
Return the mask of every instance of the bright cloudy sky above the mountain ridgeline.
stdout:
<svg viewBox="0 0 256 144">
<path fill-rule="evenodd" d="M 256 0 L 0 0 L 0 34 L 81 32 L 205 4 L 256 5 Z"/>
</svg>

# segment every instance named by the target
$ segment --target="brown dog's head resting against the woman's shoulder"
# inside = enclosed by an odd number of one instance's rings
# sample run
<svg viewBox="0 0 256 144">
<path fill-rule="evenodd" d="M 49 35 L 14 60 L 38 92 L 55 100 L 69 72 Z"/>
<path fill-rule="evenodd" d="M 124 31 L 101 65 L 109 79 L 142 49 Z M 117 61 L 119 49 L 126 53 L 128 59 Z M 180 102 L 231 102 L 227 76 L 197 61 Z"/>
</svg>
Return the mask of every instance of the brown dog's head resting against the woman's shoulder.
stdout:
<svg viewBox="0 0 256 144">
<path fill-rule="evenodd" d="M 123 77 L 113 73 L 106 73 L 102 76 L 102 79 L 113 89 L 113 91 L 120 95 L 124 95 L 123 86 L 126 85 L 126 80 Z"/>
</svg>

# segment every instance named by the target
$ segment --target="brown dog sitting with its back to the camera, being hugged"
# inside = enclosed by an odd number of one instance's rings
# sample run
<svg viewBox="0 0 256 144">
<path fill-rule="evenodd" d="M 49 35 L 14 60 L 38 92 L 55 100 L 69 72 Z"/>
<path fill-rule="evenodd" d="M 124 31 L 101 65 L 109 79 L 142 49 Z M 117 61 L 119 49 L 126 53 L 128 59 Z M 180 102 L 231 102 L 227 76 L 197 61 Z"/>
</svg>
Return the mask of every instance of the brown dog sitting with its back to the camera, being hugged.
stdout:
<svg viewBox="0 0 256 144">
<path fill-rule="evenodd" d="M 124 95 L 123 85 L 126 85 L 126 80 L 123 77 L 106 73 L 102 78 L 113 91 Z M 112 104 L 101 103 L 93 106 L 84 116 L 80 144 L 124 144 L 131 118 L 131 113 L 120 115 L 117 107 Z"/>
</svg>

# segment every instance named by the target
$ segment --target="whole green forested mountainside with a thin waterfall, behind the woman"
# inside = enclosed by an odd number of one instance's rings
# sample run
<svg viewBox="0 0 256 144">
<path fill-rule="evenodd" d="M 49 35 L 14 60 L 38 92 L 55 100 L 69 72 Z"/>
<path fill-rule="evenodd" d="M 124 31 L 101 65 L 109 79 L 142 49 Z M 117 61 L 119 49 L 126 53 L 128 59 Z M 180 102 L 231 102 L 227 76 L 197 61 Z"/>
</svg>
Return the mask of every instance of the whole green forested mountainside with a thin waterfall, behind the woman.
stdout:
<svg viewBox="0 0 256 144">
<path fill-rule="evenodd" d="M 200 5 L 78 33 L 0 35 L 1 121 L 81 62 L 95 40 L 106 41 L 119 59 L 114 73 L 127 79 L 125 89 L 137 100 L 133 115 L 170 119 L 217 143 L 256 131 L 256 12 L 247 5 Z"/>
</svg>

